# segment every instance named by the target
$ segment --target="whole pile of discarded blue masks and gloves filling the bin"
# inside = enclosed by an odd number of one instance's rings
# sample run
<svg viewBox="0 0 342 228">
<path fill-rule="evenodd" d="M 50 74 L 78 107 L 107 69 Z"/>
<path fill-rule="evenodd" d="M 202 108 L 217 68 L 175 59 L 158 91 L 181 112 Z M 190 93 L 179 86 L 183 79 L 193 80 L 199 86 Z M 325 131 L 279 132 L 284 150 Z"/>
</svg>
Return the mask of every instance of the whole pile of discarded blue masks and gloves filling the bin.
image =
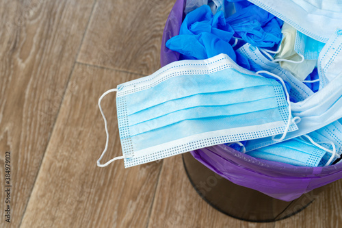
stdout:
<svg viewBox="0 0 342 228">
<path fill-rule="evenodd" d="M 130 167 L 225 144 L 262 160 L 330 166 L 342 153 L 341 5 L 188 0 L 179 53 L 98 101 L 107 142 L 98 166 Z M 106 164 L 101 100 L 116 92 L 122 156 Z"/>
</svg>

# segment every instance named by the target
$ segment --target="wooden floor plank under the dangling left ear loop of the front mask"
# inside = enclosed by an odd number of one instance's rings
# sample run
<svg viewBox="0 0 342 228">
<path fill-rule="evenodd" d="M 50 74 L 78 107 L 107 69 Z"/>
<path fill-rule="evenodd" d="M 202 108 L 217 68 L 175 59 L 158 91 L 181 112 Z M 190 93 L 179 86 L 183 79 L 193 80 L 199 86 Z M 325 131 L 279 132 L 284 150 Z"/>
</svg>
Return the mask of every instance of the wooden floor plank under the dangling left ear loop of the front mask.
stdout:
<svg viewBox="0 0 342 228">
<path fill-rule="evenodd" d="M 161 162 L 98 168 L 105 129 L 98 97 L 140 75 L 77 64 L 70 79 L 23 227 L 146 227 Z M 102 163 L 122 155 L 115 93 L 102 102 L 109 147 Z"/>
</svg>

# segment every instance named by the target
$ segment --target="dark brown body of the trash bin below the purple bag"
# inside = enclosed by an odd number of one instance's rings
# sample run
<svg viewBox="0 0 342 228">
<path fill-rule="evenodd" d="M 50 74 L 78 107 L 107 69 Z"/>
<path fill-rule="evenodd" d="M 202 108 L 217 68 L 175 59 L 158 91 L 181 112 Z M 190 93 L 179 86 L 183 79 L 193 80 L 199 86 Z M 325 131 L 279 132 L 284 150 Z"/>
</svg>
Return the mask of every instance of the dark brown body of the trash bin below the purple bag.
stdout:
<svg viewBox="0 0 342 228">
<path fill-rule="evenodd" d="M 183 164 L 189 181 L 202 199 L 228 216 L 250 222 L 274 222 L 297 214 L 326 188 L 316 188 L 287 202 L 224 179 L 198 162 L 191 153 L 183 154 Z"/>
</svg>

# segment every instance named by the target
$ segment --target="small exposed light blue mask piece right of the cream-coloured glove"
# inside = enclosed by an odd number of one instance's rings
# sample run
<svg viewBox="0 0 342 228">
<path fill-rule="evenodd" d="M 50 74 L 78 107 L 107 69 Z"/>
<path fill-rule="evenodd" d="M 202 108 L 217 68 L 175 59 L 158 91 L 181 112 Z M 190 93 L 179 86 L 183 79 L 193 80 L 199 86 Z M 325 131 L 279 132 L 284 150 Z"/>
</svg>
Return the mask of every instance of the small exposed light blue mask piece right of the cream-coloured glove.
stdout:
<svg viewBox="0 0 342 228">
<path fill-rule="evenodd" d="M 300 31 L 295 34 L 295 52 L 303 55 L 305 60 L 318 60 L 318 55 L 324 45 L 326 45 L 324 42 L 314 40 Z"/>
</svg>

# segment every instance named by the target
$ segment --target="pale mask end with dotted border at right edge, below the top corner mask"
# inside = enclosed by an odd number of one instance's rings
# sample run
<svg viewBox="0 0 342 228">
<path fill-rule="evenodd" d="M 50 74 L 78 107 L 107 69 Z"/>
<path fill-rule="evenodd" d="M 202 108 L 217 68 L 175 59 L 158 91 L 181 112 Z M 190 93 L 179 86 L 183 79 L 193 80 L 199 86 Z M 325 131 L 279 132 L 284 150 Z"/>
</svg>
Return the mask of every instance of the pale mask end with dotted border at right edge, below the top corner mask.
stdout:
<svg viewBox="0 0 342 228">
<path fill-rule="evenodd" d="M 319 53 L 317 63 L 319 90 L 341 73 L 342 64 L 342 30 L 334 32 Z"/>
</svg>

